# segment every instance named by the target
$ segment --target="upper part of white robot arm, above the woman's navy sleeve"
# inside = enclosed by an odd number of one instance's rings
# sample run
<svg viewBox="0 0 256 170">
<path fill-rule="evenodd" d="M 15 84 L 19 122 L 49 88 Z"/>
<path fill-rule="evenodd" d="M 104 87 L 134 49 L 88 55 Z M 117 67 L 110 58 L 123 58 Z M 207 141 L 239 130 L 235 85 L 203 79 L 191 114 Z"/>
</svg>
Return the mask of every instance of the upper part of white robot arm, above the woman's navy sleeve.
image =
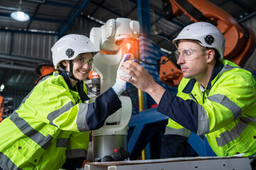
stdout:
<svg viewBox="0 0 256 170">
<path fill-rule="evenodd" d="M 122 57 L 127 53 L 124 46 L 126 40 L 139 36 L 139 22 L 129 18 L 110 19 L 100 28 L 92 28 L 90 40 L 101 52 L 94 57 L 94 71 L 100 75 L 101 93 L 114 85 L 117 68 Z M 108 54 L 103 54 L 102 51 Z M 133 60 L 131 58 L 130 60 Z"/>
</svg>

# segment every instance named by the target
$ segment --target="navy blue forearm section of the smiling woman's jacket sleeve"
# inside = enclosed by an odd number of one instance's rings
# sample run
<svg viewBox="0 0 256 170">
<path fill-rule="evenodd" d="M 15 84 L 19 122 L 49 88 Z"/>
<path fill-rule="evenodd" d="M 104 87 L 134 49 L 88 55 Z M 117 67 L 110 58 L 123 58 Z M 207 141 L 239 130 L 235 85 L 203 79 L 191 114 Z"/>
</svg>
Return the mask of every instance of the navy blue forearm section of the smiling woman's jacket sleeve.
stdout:
<svg viewBox="0 0 256 170">
<path fill-rule="evenodd" d="M 94 103 L 88 105 L 86 121 L 90 130 L 96 130 L 104 125 L 109 115 L 122 107 L 117 94 L 112 88 L 107 89 L 95 99 Z"/>
</svg>

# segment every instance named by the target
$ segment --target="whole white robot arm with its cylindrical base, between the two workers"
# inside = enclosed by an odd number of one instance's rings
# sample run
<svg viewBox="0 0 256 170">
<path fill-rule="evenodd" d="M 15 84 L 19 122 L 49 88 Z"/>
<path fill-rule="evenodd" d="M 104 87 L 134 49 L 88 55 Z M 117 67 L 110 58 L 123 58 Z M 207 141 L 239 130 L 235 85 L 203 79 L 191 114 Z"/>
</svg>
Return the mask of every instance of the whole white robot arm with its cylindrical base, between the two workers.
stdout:
<svg viewBox="0 0 256 170">
<path fill-rule="evenodd" d="M 93 69 L 100 75 L 101 94 L 114 85 L 119 63 L 124 55 L 129 53 L 132 40 L 138 36 L 139 22 L 129 18 L 110 19 L 104 26 L 92 28 L 90 40 L 100 50 L 94 57 Z M 132 101 L 127 96 L 119 98 L 122 101 L 122 108 L 107 118 L 102 128 L 92 132 L 94 161 L 112 154 L 114 149 L 119 147 L 127 150 L 127 130 L 132 116 Z"/>
</svg>

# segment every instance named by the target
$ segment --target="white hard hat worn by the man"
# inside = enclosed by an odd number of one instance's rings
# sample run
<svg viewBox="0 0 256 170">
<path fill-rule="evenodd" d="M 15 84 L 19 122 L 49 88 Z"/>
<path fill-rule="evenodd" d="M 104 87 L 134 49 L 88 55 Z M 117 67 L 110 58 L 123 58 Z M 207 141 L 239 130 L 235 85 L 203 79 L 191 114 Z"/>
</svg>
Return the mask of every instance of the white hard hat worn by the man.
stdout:
<svg viewBox="0 0 256 170">
<path fill-rule="evenodd" d="M 173 40 L 178 47 L 179 40 L 198 40 L 203 47 L 215 48 L 220 54 L 220 60 L 224 57 L 225 38 L 220 30 L 211 23 L 198 22 L 192 23 L 183 30 Z"/>
</svg>

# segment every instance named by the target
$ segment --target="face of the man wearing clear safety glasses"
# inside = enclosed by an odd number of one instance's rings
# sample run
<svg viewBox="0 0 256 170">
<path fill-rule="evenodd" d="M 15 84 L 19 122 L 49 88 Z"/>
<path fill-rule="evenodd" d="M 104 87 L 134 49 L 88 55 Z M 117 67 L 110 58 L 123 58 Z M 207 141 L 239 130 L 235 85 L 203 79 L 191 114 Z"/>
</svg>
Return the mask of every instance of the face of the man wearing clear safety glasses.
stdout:
<svg viewBox="0 0 256 170">
<path fill-rule="evenodd" d="M 189 40 L 181 40 L 178 44 L 178 61 L 183 77 L 203 79 L 207 70 L 207 55 L 201 45 Z"/>
</svg>

